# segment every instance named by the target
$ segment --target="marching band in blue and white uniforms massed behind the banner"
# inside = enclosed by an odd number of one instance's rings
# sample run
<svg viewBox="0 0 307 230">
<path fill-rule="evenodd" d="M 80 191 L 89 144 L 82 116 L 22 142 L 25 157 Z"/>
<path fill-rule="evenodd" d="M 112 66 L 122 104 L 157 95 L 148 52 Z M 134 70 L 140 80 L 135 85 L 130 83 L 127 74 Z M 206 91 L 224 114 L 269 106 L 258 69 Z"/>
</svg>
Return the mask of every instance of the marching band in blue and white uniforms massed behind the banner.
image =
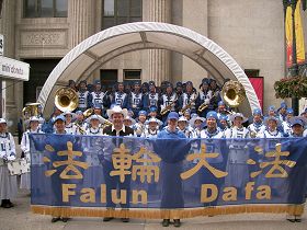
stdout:
<svg viewBox="0 0 307 230">
<path fill-rule="evenodd" d="M 109 135 L 135 136 L 143 138 L 280 138 L 307 136 L 307 110 L 299 116 L 282 103 L 280 108 L 269 106 L 268 113 L 261 108 L 252 111 L 252 117 L 231 112 L 220 96 L 220 88 L 213 79 L 203 79 L 200 91 L 191 81 L 177 83 L 162 82 L 159 88 L 154 81 L 140 84 L 134 82 L 132 88 L 118 82 L 116 88 L 103 91 L 101 82 L 94 82 L 92 92 L 87 82 L 81 81 L 76 88 L 73 81 L 69 87 L 79 96 L 75 111 L 62 112 L 55 107 L 48 119 L 42 114 L 25 120 L 26 130 L 21 137 L 22 157 L 30 161 L 30 139 L 32 133 L 53 133 L 68 135 Z M 92 108 L 92 113 L 84 113 Z M 7 120 L 0 119 L 0 198 L 1 207 L 13 207 L 11 198 L 16 195 L 16 179 L 8 173 L 5 163 L 15 159 L 15 143 L 7 130 Z M 241 146 L 229 146 L 240 150 Z M 237 151 L 234 151 L 237 152 Z M 229 152 L 229 158 L 237 154 Z M 110 164 L 111 166 L 111 164 Z M 232 165 L 227 165 L 231 171 Z M 245 170 L 243 168 L 241 170 Z M 238 171 L 238 169 L 237 169 Z M 112 180 L 112 179 L 110 179 Z M 115 183 L 115 182 L 114 182 Z M 116 182 L 117 183 L 117 182 Z M 115 183 L 115 186 L 116 186 Z M 240 183 L 237 180 L 234 183 Z M 31 189 L 30 173 L 21 176 L 21 188 Z M 113 217 L 105 217 L 110 221 Z M 294 217 L 294 221 L 299 217 Z M 68 218 L 54 217 L 53 222 Z M 127 222 L 127 218 L 122 219 Z M 169 226 L 164 219 L 162 225 Z M 180 226 L 180 220 L 175 220 Z"/>
</svg>

